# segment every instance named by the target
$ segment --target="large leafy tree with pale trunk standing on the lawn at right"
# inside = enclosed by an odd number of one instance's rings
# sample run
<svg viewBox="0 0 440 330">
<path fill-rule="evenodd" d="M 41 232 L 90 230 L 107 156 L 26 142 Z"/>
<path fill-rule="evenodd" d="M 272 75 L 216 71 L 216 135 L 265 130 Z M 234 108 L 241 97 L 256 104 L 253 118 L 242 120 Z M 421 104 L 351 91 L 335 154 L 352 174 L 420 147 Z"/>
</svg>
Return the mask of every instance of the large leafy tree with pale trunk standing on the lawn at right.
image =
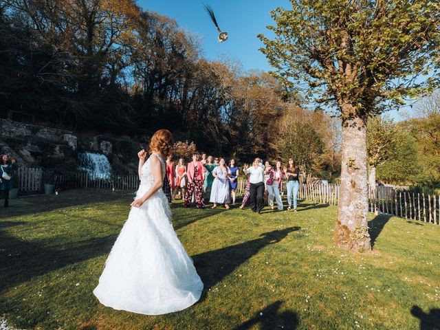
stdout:
<svg viewBox="0 0 440 330">
<path fill-rule="evenodd" d="M 341 192 L 334 237 L 371 250 L 367 227 L 366 125 L 406 96 L 432 91 L 439 79 L 437 0 L 291 0 L 272 11 L 274 39 L 262 52 L 285 86 L 335 106 L 342 122 Z M 423 79 L 423 75 L 433 74 Z M 388 101 L 388 102 L 385 102 Z"/>
</svg>

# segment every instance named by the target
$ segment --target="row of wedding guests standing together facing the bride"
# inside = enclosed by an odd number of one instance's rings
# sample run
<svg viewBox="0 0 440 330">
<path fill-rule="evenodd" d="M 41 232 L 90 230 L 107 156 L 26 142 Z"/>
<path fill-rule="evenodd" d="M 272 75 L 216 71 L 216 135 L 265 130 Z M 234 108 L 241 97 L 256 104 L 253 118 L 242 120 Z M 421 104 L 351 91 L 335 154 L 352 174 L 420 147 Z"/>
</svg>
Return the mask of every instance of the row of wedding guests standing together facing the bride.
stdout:
<svg viewBox="0 0 440 330">
<path fill-rule="evenodd" d="M 245 192 L 240 208 L 250 203 L 254 212 L 261 212 L 264 207 L 264 197 L 267 196 L 268 205 L 274 209 L 274 202 L 278 210 L 283 210 L 281 199 L 281 184 L 283 179 L 287 181 L 287 210 L 292 206 L 296 212 L 297 196 L 299 190 L 299 168 L 294 159 L 289 158 L 286 166 L 276 162 L 272 166 L 270 162 L 263 162 L 260 158 L 254 159 L 252 166 L 245 164 L 246 175 Z M 185 164 L 184 159 L 179 159 L 174 166 L 171 156 L 166 160 L 166 181 L 164 186 L 170 186 L 167 194 L 169 200 L 175 197 L 180 190 L 184 198 L 185 207 L 189 207 L 195 201 L 197 208 L 204 208 L 205 201 L 212 203 L 212 208 L 223 204 L 226 209 L 230 204 L 235 205 L 236 187 L 239 179 L 239 167 L 234 159 L 226 164 L 222 157 L 212 157 L 202 153 L 201 159 L 198 153 L 192 155 L 192 161 Z"/>
</svg>

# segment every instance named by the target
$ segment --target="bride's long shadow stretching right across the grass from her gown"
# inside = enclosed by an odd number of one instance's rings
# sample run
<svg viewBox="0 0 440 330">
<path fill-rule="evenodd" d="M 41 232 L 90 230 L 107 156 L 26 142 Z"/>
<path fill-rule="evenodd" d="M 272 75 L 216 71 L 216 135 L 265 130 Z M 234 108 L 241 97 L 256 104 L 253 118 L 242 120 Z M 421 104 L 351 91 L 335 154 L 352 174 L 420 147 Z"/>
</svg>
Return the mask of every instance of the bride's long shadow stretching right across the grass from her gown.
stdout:
<svg viewBox="0 0 440 330">
<path fill-rule="evenodd" d="M 201 300 L 206 297 L 206 292 L 225 276 L 234 272 L 236 267 L 257 254 L 266 245 L 278 243 L 289 232 L 300 230 L 300 227 L 289 227 L 283 230 L 265 232 L 258 239 L 228 246 L 218 250 L 204 252 L 192 256 L 197 272 L 203 281 L 204 289 Z"/>
</svg>

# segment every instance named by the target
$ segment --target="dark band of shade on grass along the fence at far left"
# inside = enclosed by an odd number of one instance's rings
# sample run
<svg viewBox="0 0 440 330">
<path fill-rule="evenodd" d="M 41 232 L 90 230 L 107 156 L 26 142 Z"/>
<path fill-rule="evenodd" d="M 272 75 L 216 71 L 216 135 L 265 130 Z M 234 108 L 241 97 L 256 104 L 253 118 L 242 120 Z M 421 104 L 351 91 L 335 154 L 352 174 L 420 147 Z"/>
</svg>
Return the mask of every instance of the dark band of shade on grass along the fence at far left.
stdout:
<svg viewBox="0 0 440 330">
<path fill-rule="evenodd" d="M 27 201 L 25 206 L 10 206 L 1 210 L 1 217 L 18 217 L 26 214 L 35 214 L 39 212 L 49 212 L 58 208 L 67 208 L 70 206 L 85 206 L 90 203 L 115 201 L 133 197 L 131 191 L 116 191 L 105 189 L 76 189 L 62 191 L 60 195 L 32 195 L 19 197 Z M 11 201 L 12 203 L 13 201 Z"/>
</svg>

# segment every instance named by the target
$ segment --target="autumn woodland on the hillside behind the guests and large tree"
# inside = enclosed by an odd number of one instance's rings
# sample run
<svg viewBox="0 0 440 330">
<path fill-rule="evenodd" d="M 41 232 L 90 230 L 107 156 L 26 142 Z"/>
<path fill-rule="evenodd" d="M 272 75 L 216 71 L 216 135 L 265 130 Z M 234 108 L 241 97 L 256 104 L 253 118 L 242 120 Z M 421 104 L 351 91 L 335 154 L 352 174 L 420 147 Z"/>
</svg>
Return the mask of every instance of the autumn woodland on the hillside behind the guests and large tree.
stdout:
<svg viewBox="0 0 440 330">
<path fill-rule="evenodd" d="M 76 132 L 175 140 L 240 163 L 294 157 L 338 181 L 340 120 L 265 72 L 206 61 L 197 36 L 135 1 L 1 0 L 0 116 Z M 25 118 L 25 117 L 23 117 Z M 369 166 L 391 184 L 440 184 L 440 94 L 369 121 Z"/>
</svg>

